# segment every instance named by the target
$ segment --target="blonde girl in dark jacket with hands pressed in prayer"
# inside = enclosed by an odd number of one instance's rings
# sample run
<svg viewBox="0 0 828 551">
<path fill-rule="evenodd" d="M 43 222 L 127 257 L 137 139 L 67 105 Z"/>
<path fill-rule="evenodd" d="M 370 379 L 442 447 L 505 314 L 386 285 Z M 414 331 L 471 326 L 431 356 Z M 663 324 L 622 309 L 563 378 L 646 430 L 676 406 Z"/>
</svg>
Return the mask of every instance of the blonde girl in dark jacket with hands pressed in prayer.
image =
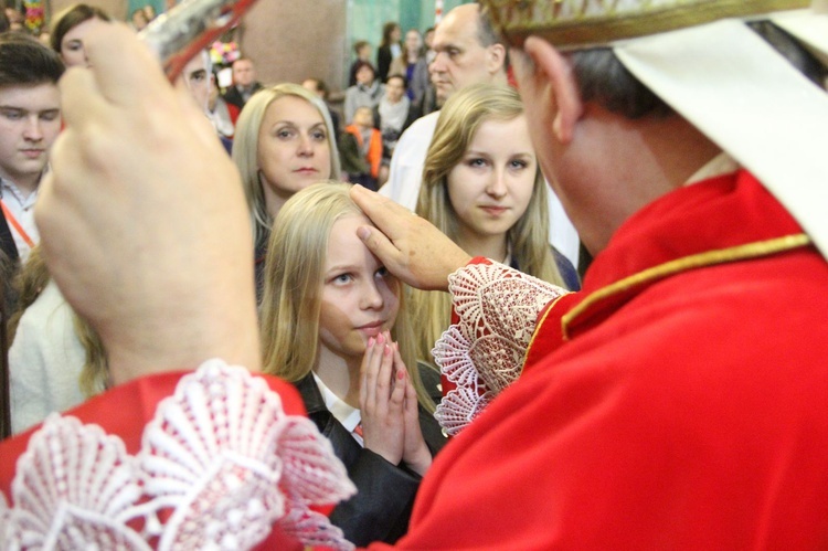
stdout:
<svg viewBox="0 0 828 551">
<path fill-rule="evenodd" d="M 263 371 L 296 385 L 348 468 L 359 491 L 330 518 L 364 545 L 405 533 L 421 477 L 445 437 L 420 373 L 407 368 L 416 362 L 402 283 L 357 236 L 370 222 L 350 187 L 312 186 L 276 218 Z"/>
</svg>

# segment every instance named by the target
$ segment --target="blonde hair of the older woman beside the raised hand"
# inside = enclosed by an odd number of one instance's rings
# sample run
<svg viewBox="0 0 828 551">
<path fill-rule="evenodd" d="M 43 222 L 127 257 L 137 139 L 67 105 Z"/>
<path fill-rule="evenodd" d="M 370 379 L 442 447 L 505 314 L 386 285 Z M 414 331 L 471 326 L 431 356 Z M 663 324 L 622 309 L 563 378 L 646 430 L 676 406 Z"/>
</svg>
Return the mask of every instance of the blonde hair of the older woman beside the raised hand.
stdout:
<svg viewBox="0 0 828 551">
<path fill-rule="evenodd" d="M 273 225 L 273 216 L 267 212 L 265 192 L 258 177 L 258 133 L 265 118 L 267 108 L 277 99 L 285 96 L 296 96 L 305 99 L 316 107 L 325 120 L 328 134 L 328 148 L 330 149 L 330 174 L 331 180 L 341 178 L 339 168 L 339 150 L 337 149 L 337 137 L 333 131 L 333 123 L 325 103 L 312 92 L 294 83 L 277 84 L 276 86 L 258 91 L 244 105 L 236 123 L 235 138 L 233 139 L 233 162 L 242 174 L 242 186 L 247 198 L 247 208 L 251 213 L 253 237 L 256 246 L 263 245 Z"/>
</svg>

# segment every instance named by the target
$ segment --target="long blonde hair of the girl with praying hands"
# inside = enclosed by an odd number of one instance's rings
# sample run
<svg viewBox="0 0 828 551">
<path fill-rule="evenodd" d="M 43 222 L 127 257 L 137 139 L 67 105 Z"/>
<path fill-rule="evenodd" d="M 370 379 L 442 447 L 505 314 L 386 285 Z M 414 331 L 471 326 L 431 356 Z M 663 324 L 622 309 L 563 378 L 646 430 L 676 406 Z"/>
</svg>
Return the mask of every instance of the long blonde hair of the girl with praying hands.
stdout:
<svg viewBox="0 0 828 551">
<path fill-rule="evenodd" d="M 362 215 L 351 200 L 351 184 L 319 182 L 294 194 L 279 210 L 267 244 L 262 300 L 263 371 L 296 382 L 312 370 L 319 349 L 319 315 L 328 239 L 333 224 Z M 402 283 L 400 284 L 402 286 Z M 414 335 L 404 293 L 391 331 L 427 411 L 434 403 L 423 388 L 414 354 Z"/>
</svg>

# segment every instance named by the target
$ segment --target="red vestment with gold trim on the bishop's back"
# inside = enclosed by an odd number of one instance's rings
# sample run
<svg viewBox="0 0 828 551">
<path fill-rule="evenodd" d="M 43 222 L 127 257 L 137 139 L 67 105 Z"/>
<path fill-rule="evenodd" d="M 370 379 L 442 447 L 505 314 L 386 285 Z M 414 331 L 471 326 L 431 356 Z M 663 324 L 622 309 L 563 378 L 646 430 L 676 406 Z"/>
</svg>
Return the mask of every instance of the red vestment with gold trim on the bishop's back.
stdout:
<svg viewBox="0 0 828 551">
<path fill-rule="evenodd" d="M 406 549 L 826 549 L 828 265 L 746 172 L 631 216 L 436 457 Z"/>
</svg>

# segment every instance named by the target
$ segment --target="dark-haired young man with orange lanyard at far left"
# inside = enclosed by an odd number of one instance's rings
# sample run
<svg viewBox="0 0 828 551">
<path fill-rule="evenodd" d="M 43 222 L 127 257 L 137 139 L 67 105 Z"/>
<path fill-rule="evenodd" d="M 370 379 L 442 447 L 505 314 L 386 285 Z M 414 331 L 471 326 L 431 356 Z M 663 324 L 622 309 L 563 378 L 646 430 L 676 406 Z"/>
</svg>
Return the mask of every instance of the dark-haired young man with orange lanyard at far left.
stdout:
<svg viewBox="0 0 828 551">
<path fill-rule="evenodd" d="M 0 245 L 25 262 L 39 241 L 34 202 L 61 129 L 56 53 L 22 34 L 0 36 Z"/>
</svg>

